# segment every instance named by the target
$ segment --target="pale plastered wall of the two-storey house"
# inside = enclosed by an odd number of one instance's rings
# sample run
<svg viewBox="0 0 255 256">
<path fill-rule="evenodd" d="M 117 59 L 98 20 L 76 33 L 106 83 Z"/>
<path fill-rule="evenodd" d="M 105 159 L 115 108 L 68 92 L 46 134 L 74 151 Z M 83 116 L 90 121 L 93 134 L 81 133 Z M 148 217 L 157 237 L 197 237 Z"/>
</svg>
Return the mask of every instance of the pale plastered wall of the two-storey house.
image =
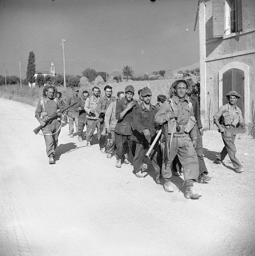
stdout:
<svg viewBox="0 0 255 256">
<path fill-rule="evenodd" d="M 199 13 L 200 75 L 201 75 L 201 119 L 205 128 L 214 129 L 213 115 L 219 104 L 219 72 L 229 63 L 235 68 L 247 65 L 245 75 L 246 123 L 252 121 L 251 104 L 255 100 L 255 0 L 242 1 L 243 30 L 224 37 L 213 38 L 212 0 L 202 0 Z M 238 64 L 239 63 L 239 64 Z M 231 65 L 231 64 L 229 64 Z M 237 66 L 236 66 L 237 65 Z M 242 69 L 242 68 L 240 68 Z M 247 111 L 246 111 L 247 110 Z M 249 123 L 251 127 L 251 123 Z"/>
</svg>

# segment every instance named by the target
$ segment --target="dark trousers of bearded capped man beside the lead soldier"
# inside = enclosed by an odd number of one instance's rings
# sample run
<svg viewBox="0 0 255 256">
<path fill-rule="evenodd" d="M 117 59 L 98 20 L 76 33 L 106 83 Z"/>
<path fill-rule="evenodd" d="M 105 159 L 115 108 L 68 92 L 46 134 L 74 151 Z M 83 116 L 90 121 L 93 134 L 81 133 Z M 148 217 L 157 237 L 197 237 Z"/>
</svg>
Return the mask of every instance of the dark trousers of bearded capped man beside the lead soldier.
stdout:
<svg viewBox="0 0 255 256">
<path fill-rule="evenodd" d="M 142 170 L 144 163 L 145 153 L 150 148 L 150 144 L 136 144 L 136 152 L 133 161 L 134 171 L 137 173 L 139 170 Z M 162 168 L 162 153 L 159 147 L 159 142 L 155 144 L 153 150 L 150 152 L 150 161 L 154 168 L 155 174 L 160 173 Z"/>
</svg>

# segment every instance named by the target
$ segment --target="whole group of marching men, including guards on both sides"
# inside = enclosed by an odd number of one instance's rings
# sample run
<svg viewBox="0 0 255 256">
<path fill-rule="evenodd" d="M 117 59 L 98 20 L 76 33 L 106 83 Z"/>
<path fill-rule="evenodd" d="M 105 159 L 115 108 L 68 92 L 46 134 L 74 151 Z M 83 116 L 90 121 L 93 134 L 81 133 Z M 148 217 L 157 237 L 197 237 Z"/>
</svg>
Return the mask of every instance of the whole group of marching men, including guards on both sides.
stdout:
<svg viewBox="0 0 255 256">
<path fill-rule="evenodd" d="M 193 95 L 192 86 L 185 79 L 176 80 L 169 90 L 169 98 L 158 95 L 157 104 L 151 104 L 152 92 L 148 87 L 138 91 L 139 100 L 133 99 L 135 90 L 132 85 L 125 92 L 112 96 L 112 87 L 106 85 L 105 95 L 99 97 L 97 86 L 79 96 L 79 88 L 73 88 L 73 95 L 62 101 L 61 93 L 54 86 L 43 89 L 43 97 L 37 104 L 35 116 L 42 125 L 49 164 L 54 164 L 54 154 L 60 132 L 61 109 L 68 109 L 69 133 L 74 135 L 74 124 L 78 140 L 82 141 L 82 132 L 86 125 L 86 146 L 91 147 L 95 129 L 99 148 L 111 158 L 116 155 L 116 167 L 133 162 L 136 177 L 143 177 L 143 171 L 150 162 L 155 170 L 155 181 L 164 180 L 164 190 L 173 192 L 170 178 L 183 173 L 186 198 L 198 199 L 201 194 L 193 189 L 194 182 L 207 183 L 211 177 L 203 158 L 202 135 L 198 98 Z M 230 91 L 229 103 L 222 106 L 214 116 L 214 122 L 221 132 L 225 147 L 215 160 L 221 164 L 228 154 L 236 173 L 242 172 L 242 166 L 235 156 L 235 135 L 238 125 L 245 128 L 241 110 L 236 101 L 241 97 Z M 51 115 L 59 112 L 59 118 L 48 121 Z M 147 156 L 146 156 L 147 155 Z M 148 161 L 149 160 L 149 161 Z"/>
</svg>

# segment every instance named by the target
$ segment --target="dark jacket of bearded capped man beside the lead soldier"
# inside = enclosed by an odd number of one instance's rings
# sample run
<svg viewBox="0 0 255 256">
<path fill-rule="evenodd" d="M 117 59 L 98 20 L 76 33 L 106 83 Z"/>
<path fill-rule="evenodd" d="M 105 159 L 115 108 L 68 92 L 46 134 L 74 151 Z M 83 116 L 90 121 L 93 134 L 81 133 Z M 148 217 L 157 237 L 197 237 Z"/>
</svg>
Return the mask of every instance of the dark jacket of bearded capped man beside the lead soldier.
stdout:
<svg viewBox="0 0 255 256">
<path fill-rule="evenodd" d="M 150 144 L 156 136 L 156 123 L 155 115 L 158 109 L 156 106 L 150 104 L 150 110 L 148 110 L 142 102 L 137 109 L 133 111 L 133 135 L 134 140 L 141 144 Z M 150 136 L 144 136 L 142 131 L 148 129 Z"/>
</svg>

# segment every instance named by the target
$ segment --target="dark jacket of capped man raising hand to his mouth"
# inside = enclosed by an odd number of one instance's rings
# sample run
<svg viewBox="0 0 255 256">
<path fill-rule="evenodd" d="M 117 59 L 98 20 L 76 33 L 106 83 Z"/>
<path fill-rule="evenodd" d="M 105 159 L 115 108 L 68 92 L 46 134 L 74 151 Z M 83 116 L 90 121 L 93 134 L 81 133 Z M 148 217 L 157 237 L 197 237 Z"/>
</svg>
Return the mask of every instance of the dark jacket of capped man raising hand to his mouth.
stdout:
<svg viewBox="0 0 255 256">
<path fill-rule="evenodd" d="M 134 101 L 136 103 L 136 105 L 133 106 L 132 109 L 128 110 L 126 115 L 122 119 L 120 118 L 120 113 L 127 107 L 127 104 L 128 104 L 127 99 L 123 98 L 116 102 L 116 119 L 118 121 L 117 121 L 114 131 L 118 134 L 122 134 L 122 135 L 132 135 L 133 134 L 130 123 L 133 122 L 133 111 L 139 105 L 136 100 L 133 99 L 132 101 Z"/>
</svg>

